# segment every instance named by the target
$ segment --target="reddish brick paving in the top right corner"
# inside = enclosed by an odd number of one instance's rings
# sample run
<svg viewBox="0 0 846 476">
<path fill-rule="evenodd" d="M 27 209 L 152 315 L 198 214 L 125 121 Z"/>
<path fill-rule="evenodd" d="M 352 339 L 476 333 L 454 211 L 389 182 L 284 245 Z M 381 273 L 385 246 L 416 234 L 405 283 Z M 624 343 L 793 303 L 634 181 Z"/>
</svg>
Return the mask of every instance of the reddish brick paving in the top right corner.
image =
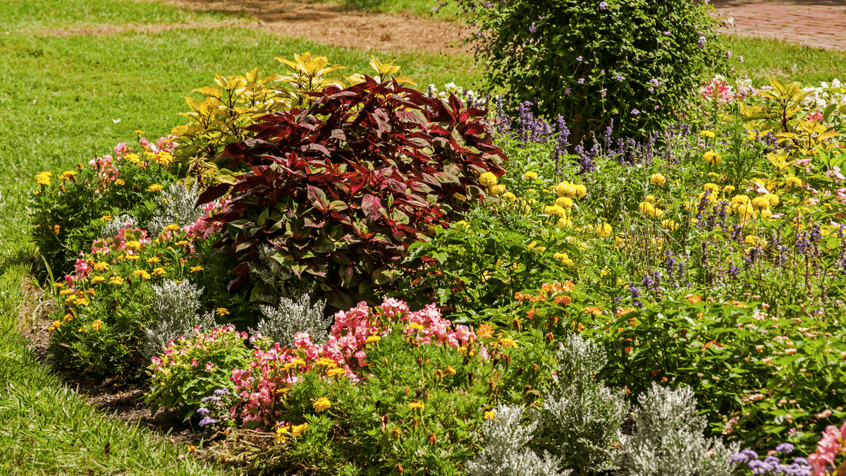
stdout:
<svg viewBox="0 0 846 476">
<path fill-rule="evenodd" d="M 732 34 L 846 51 L 846 0 L 712 0 Z"/>
</svg>

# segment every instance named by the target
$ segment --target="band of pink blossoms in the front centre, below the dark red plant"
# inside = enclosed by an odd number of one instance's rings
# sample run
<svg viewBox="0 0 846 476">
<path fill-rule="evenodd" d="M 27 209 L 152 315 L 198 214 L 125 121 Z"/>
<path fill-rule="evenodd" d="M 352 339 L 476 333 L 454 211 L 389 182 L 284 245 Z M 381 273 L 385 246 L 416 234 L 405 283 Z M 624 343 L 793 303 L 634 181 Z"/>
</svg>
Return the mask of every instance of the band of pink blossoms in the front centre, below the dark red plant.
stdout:
<svg viewBox="0 0 846 476">
<path fill-rule="evenodd" d="M 340 368 L 345 377 L 360 381 L 368 365 L 368 338 L 387 335 L 394 329 L 403 332 L 415 344 L 458 347 L 476 339 L 475 333 L 465 325 L 453 330 L 452 323 L 441 317 L 434 304 L 409 313 L 408 304 L 394 298 L 386 298 L 381 306 L 372 309 L 360 302 L 347 312 L 338 311 L 325 343 L 316 345 L 310 335 L 299 333 L 294 336 L 294 346 L 287 348 L 276 343 L 268 351 L 256 348 L 250 368 L 233 370 L 235 390 L 244 401 L 241 412 L 244 425 L 272 428 L 278 416 L 275 407 L 283 389 L 296 384 L 302 379 L 300 375 L 312 368 L 321 371 L 329 367 Z M 486 358 L 484 347 L 479 352 Z"/>
</svg>

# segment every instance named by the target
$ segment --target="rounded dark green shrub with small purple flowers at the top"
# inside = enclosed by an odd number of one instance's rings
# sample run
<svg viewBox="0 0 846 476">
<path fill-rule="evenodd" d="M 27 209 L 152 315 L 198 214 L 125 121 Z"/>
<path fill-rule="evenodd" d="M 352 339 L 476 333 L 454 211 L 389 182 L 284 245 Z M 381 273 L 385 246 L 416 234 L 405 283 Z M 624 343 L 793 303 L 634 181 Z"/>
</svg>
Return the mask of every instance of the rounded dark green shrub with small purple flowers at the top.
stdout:
<svg viewBox="0 0 846 476">
<path fill-rule="evenodd" d="M 689 0 L 459 0 L 492 86 L 560 114 L 573 141 L 643 136 L 723 64 L 713 8 Z"/>
</svg>

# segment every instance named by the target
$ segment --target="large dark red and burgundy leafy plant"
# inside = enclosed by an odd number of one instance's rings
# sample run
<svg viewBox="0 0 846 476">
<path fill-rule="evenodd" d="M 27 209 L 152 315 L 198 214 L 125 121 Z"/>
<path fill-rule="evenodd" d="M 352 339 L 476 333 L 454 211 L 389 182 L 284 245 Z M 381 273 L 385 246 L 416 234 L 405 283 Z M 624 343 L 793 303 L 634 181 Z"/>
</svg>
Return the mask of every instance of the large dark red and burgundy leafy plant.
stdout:
<svg viewBox="0 0 846 476">
<path fill-rule="evenodd" d="M 479 175 L 504 173 L 486 111 L 464 108 L 372 78 L 314 94 L 304 111 L 266 116 L 253 138 L 229 144 L 230 167 L 249 166 L 233 184 L 211 187 L 198 203 L 229 192 L 217 246 L 236 253 L 233 286 L 248 280 L 262 243 L 333 307 L 372 300 L 403 273 L 416 240 L 448 226 L 480 199 Z"/>
</svg>

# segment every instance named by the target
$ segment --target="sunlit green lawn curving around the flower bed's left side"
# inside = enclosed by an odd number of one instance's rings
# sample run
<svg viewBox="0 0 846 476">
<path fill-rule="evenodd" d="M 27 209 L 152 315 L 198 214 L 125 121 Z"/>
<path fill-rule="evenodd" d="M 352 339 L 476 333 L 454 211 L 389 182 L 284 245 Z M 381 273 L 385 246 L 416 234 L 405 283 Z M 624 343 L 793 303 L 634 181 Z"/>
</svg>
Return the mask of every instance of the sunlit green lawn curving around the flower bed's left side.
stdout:
<svg viewBox="0 0 846 476">
<path fill-rule="evenodd" d="M 61 173 L 121 141 L 163 136 L 187 119 L 185 91 L 214 73 L 259 67 L 284 73 L 273 57 L 310 51 L 370 72 L 369 53 L 280 39 L 239 27 L 46 36 L 42 28 L 102 23 L 222 19 L 157 3 L 12 1 L 0 5 L 0 473 L 210 473 L 146 429 L 102 416 L 36 361 L 17 331 L 21 283 L 37 250 L 27 238 L 27 195 L 42 170 Z M 393 55 L 421 85 L 476 80 L 470 60 Z M 387 58 L 387 55 L 386 57 Z M 156 469 L 151 469 L 156 468 Z"/>
</svg>

